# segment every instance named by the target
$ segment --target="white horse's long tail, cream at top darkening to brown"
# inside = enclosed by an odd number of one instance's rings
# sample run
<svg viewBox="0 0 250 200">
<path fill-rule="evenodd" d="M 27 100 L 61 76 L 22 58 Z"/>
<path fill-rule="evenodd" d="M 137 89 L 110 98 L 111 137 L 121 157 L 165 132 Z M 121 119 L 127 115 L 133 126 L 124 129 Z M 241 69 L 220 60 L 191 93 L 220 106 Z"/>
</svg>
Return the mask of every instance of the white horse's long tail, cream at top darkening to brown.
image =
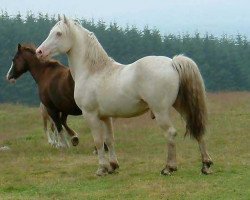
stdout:
<svg viewBox="0 0 250 200">
<path fill-rule="evenodd" d="M 179 73 L 179 93 L 174 107 L 186 121 L 186 134 L 197 140 L 205 133 L 207 105 L 204 82 L 196 63 L 183 55 L 173 58 L 173 66 Z"/>
</svg>

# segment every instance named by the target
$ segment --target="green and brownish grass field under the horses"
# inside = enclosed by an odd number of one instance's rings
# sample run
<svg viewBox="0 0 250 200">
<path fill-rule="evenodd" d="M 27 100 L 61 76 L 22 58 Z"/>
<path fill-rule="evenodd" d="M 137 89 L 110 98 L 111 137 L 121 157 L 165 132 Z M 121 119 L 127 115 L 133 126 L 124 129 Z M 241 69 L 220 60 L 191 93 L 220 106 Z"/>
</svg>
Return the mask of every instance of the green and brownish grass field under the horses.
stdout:
<svg viewBox="0 0 250 200">
<path fill-rule="evenodd" d="M 173 112 L 178 171 L 160 175 L 166 139 L 149 113 L 115 121 L 118 174 L 95 176 L 97 157 L 82 117 L 69 123 L 76 148 L 53 149 L 44 137 L 38 108 L 0 105 L 0 199 L 250 199 L 250 93 L 209 94 L 206 135 L 212 175 L 200 173 L 197 142 L 184 139 Z"/>
</svg>

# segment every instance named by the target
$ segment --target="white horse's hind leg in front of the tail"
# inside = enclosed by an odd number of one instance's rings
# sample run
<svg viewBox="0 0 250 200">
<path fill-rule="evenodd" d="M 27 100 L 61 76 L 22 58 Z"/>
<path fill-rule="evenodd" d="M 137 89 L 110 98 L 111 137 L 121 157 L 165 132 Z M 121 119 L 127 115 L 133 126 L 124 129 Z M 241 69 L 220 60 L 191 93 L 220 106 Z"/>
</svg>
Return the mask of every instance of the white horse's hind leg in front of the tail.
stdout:
<svg viewBox="0 0 250 200">
<path fill-rule="evenodd" d="M 159 126 L 165 131 L 165 136 L 167 138 L 167 163 L 165 168 L 161 171 L 162 175 L 171 175 L 172 172 L 177 170 L 176 163 L 176 147 L 175 147 L 175 136 L 176 130 L 172 125 L 169 118 L 169 111 L 155 113 L 156 121 Z"/>
</svg>

